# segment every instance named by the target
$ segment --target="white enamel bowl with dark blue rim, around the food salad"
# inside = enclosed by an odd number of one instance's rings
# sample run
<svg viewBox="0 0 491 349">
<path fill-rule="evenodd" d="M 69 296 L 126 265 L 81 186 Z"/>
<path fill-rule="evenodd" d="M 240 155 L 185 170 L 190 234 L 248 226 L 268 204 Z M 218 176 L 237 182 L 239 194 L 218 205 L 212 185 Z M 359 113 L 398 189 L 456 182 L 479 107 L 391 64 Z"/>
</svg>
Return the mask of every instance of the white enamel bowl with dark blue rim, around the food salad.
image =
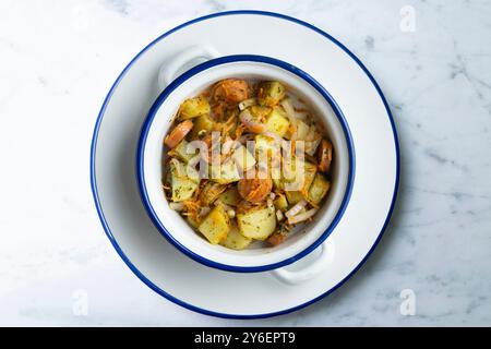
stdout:
<svg viewBox="0 0 491 349">
<path fill-rule="evenodd" d="M 179 56 L 189 59 L 192 57 L 189 51 L 200 52 L 199 49 L 191 48 Z M 166 69 L 167 67 L 165 64 Z M 280 81 L 312 109 L 334 145 L 333 184 L 326 202 L 314 216 L 313 222 L 297 229 L 287 241 L 275 248 L 258 246 L 235 251 L 208 243 L 177 212 L 169 208 L 163 191 L 163 140 L 172 125 L 180 104 L 227 77 Z M 263 56 L 239 55 L 212 59 L 173 80 L 148 112 L 139 142 L 136 163 L 142 200 L 159 231 L 193 260 L 231 272 L 279 268 L 312 252 L 343 217 L 355 177 L 355 152 L 349 128 L 332 96 L 306 72 Z"/>
</svg>

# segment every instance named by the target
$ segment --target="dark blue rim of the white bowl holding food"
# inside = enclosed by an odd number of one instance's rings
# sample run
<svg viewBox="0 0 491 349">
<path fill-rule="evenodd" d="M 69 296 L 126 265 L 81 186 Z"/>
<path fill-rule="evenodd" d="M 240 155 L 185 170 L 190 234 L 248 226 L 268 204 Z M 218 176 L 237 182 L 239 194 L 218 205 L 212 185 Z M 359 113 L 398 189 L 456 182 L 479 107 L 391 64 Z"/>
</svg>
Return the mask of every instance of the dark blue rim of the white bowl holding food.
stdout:
<svg viewBox="0 0 491 349">
<path fill-rule="evenodd" d="M 227 63 L 236 63 L 236 62 L 256 62 L 256 63 L 263 63 L 268 65 L 274 65 L 279 69 L 283 69 L 302 80 L 304 80 L 307 83 L 309 83 L 315 91 L 321 94 L 321 96 L 330 104 L 331 108 L 333 109 L 334 113 L 336 115 L 337 119 L 339 120 L 339 123 L 343 128 L 343 133 L 346 139 L 346 144 L 348 147 L 348 163 L 349 163 L 349 170 L 348 170 L 348 180 L 346 183 L 345 193 L 343 196 L 343 201 L 339 205 L 339 208 L 334 216 L 333 220 L 328 225 L 328 227 L 324 230 L 324 232 L 309 246 L 307 246 L 304 250 L 298 252 L 294 256 L 289 256 L 288 258 L 285 258 L 280 262 L 266 264 L 266 265 L 259 265 L 259 266 L 236 266 L 236 265 L 229 265 L 224 264 L 219 262 L 215 262 L 212 260 L 208 260 L 206 257 L 201 256 L 200 254 L 196 254 L 194 251 L 188 249 L 185 245 L 183 245 L 179 240 L 177 240 L 170 231 L 167 230 L 163 221 L 158 218 L 158 215 L 156 214 L 152 202 L 148 197 L 148 192 L 146 190 L 146 183 L 145 183 L 145 170 L 144 170 L 144 160 L 145 160 L 145 146 L 146 146 L 146 140 L 148 136 L 149 129 L 152 128 L 152 123 L 155 119 L 155 116 L 157 111 L 159 110 L 160 106 L 166 101 L 167 97 L 180 85 L 185 83 L 189 79 L 195 76 L 196 74 L 206 71 L 211 68 L 215 68 L 218 65 L 227 64 Z M 327 237 L 333 232 L 333 230 L 336 228 L 339 220 L 343 218 L 343 215 L 346 210 L 346 207 L 349 203 L 349 198 L 351 196 L 352 185 L 355 181 L 355 147 L 352 144 L 351 133 L 349 131 L 348 123 L 346 122 L 346 119 L 343 115 L 343 111 L 340 110 L 339 106 L 336 104 L 334 98 L 331 96 L 331 94 L 318 82 L 315 79 L 310 76 L 308 73 L 302 71 L 301 69 L 287 63 L 285 61 L 266 57 L 266 56 L 258 56 L 258 55 L 231 55 L 231 56 L 224 56 L 215 59 L 211 59 L 204 63 L 197 64 L 177 79 L 175 79 L 157 97 L 153 106 L 151 107 L 147 117 L 145 121 L 143 122 L 143 127 L 141 130 L 137 148 L 136 148 L 136 179 L 140 190 L 140 196 L 142 198 L 143 205 L 145 206 L 146 213 L 148 214 L 149 218 L 152 219 L 153 224 L 157 228 L 158 231 L 164 236 L 164 238 L 167 239 L 173 246 L 176 246 L 179 251 L 191 257 L 192 260 L 204 264 L 209 267 L 214 267 L 221 270 L 227 272 L 236 272 L 236 273 L 260 273 L 260 272 L 266 272 L 271 269 L 280 268 L 283 266 L 286 266 L 288 264 L 295 263 L 298 260 L 304 257 L 309 253 L 311 253 L 313 250 L 315 250 L 321 243 L 327 239 Z"/>
</svg>

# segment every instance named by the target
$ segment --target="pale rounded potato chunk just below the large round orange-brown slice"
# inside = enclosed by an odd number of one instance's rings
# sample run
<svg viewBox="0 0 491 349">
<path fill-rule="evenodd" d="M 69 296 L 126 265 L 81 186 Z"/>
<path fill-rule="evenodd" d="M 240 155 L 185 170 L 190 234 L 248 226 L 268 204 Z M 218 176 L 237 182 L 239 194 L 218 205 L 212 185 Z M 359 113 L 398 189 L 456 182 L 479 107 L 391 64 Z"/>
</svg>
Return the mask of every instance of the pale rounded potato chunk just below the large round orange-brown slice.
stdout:
<svg viewBox="0 0 491 349">
<path fill-rule="evenodd" d="M 238 214 L 237 221 L 242 236 L 266 240 L 276 229 L 275 208 L 272 206 Z"/>
</svg>

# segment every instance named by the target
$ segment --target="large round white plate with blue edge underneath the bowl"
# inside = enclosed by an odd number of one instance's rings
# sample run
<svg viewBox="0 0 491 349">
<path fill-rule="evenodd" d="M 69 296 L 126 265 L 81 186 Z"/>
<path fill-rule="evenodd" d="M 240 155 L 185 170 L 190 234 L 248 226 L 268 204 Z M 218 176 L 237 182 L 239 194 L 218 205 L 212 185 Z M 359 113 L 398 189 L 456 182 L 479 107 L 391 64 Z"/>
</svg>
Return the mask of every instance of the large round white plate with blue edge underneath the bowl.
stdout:
<svg viewBox="0 0 491 349">
<path fill-rule="evenodd" d="M 265 33 L 267 40 L 261 39 Z M 159 93 L 159 67 L 196 44 L 209 45 L 224 56 L 263 55 L 288 61 L 316 79 L 343 110 L 355 143 L 355 185 L 345 215 L 328 238 L 335 251 L 331 264 L 315 278 L 287 286 L 268 273 L 239 274 L 206 267 L 170 245 L 146 216 L 134 171 L 140 129 Z M 349 278 L 372 252 L 388 222 L 398 173 L 394 122 L 382 92 L 362 63 L 310 24 L 255 11 L 204 16 L 149 44 L 123 70 L 106 97 L 91 157 L 92 188 L 100 220 L 133 273 L 177 304 L 204 314 L 240 318 L 298 310 Z"/>
</svg>

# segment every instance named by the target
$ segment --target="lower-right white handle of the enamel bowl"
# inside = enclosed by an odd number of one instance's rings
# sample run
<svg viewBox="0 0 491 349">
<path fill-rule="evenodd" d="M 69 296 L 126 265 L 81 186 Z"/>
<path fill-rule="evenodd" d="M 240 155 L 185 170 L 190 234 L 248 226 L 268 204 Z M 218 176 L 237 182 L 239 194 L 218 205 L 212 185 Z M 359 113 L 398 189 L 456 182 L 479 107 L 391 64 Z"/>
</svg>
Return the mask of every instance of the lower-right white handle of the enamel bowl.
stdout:
<svg viewBox="0 0 491 349">
<path fill-rule="evenodd" d="M 300 284 L 315 277 L 333 262 L 335 253 L 334 241 L 325 241 L 318 249 L 321 249 L 320 255 L 306 267 L 299 270 L 288 270 L 286 267 L 283 267 L 272 270 L 271 274 L 289 285 Z"/>
</svg>

